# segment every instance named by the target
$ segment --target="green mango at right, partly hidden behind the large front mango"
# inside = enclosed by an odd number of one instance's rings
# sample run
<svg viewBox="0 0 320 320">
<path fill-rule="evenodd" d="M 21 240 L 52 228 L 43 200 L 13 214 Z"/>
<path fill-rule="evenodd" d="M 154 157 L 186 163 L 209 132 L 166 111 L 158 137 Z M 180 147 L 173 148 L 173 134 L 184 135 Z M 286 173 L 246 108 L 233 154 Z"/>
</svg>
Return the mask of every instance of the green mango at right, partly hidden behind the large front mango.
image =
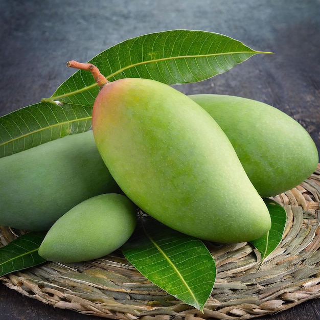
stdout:
<svg viewBox="0 0 320 320">
<path fill-rule="evenodd" d="M 317 168 L 318 152 L 309 133 L 268 104 L 226 95 L 191 95 L 219 124 L 261 195 L 290 190 Z"/>
</svg>

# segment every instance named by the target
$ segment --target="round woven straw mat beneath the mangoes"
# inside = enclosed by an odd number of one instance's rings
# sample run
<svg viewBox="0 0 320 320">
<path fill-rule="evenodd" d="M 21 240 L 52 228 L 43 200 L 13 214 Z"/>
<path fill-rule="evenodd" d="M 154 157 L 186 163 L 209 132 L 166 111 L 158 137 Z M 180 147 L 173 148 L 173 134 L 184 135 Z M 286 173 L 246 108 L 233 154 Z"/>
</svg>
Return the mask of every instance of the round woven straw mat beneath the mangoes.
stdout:
<svg viewBox="0 0 320 320">
<path fill-rule="evenodd" d="M 61 309 L 112 319 L 249 319 L 320 296 L 320 165 L 274 200 L 287 212 L 282 242 L 259 269 L 250 244 L 208 244 L 217 279 L 204 313 L 144 278 L 122 255 L 83 263 L 48 262 L 0 278 L 9 288 Z M 1 228 L 0 246 L 22 232 Z"/>
</svg>

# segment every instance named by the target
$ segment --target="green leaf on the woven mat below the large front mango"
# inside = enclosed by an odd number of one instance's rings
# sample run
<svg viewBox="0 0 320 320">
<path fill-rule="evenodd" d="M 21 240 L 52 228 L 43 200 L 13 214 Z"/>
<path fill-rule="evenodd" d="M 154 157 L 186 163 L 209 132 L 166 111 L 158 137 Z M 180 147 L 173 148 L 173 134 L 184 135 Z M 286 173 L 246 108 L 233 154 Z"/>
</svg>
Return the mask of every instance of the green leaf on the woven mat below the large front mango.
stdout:
<svg viewBox="0 0 320 320">
<path fill-rule="evenodd" d="M 142 224 L 121 248 L 124 256 L 155 285 L 202 311 L 216 278 L 208 248 L 149 217 Z"/>
</svg>

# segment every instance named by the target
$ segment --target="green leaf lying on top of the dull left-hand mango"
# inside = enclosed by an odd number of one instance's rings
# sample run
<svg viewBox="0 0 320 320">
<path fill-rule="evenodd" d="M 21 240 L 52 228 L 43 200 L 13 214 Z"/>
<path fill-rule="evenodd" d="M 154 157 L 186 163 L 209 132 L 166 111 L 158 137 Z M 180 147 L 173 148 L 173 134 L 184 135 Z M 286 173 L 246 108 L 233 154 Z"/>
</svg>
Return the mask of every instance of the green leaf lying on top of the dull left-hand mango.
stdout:
<svg viewBox="0 0 320 320">
<path fill-rule="evenodd" d="M 87 131 L 92 107 L 37 103 L 0 117 L 0 158 Z"/>
</svg>

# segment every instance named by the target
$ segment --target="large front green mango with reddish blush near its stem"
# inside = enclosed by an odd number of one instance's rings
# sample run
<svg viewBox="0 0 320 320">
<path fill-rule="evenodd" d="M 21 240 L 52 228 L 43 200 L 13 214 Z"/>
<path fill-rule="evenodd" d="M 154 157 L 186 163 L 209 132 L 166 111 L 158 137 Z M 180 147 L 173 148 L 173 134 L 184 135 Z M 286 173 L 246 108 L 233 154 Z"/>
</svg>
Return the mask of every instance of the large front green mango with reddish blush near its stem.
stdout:
<svg viewBox="0 0 320 320">
<path fill-rule="evenodd" d="M 226 135 L 198 104 L 147 79 L 101 89 L 95 141 L 123 192 L 182 233 L 216 242 L 265 235 L 269 212 Z"/>
</svg>

